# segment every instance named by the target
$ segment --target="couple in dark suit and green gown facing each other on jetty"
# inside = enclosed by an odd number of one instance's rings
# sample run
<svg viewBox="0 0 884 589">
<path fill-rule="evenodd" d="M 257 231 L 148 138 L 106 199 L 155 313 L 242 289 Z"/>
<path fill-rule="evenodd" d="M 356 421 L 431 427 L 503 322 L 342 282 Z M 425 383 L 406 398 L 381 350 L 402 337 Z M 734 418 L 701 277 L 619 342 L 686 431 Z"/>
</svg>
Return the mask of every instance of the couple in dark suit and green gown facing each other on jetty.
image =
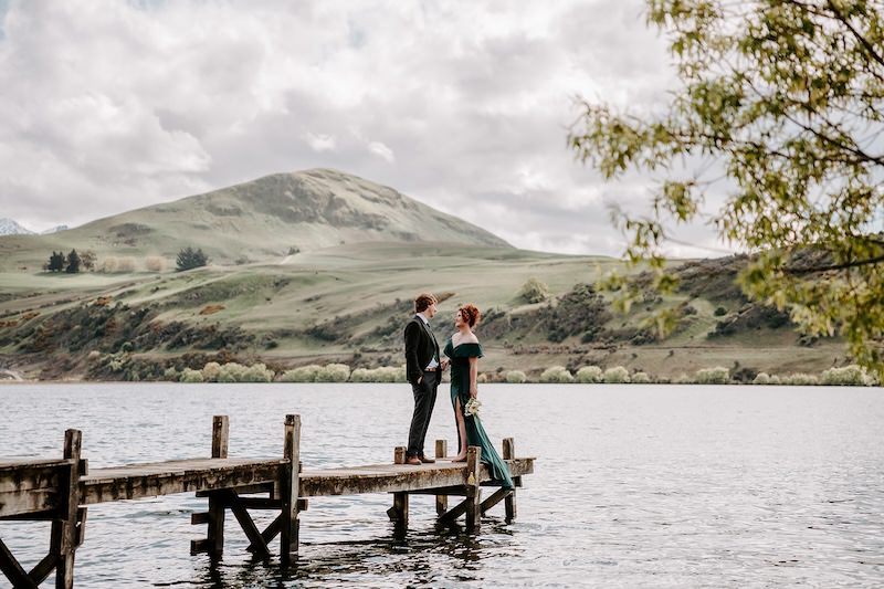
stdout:
<svg viewBox="0 0 884 589">
<path fill-rule="evenodd" d="M 430 319 L 436 314 L 436 298 L 424 293 L 414 299 L 414 316 L 406 325 L 406 371 L 414 393 L 414 413 L 408 434 L 406 464 L 420 465 L 435 462 L 423 452 L 427 429 L 435 406 L 435 393 L 442 380 L 442 372 L 451 366 L 451 404 L 457 424 L 457 455 L 454 462 L 466 460 L 466 448 L 482 449 L 482 462 L 488 465 L 492 480 L 504 488 L 513 488 L 509 469 L 501 460 L 488 440 L 485 428 L 478 419 L 478 358 L 482 346 L 473 327 L 478 323 L 480 313 L 475 305 L 465 304 L 454 314 L 457 329 L 445 343 L 442 358 L 439 344 L 430 328 Z"/>
</svg>

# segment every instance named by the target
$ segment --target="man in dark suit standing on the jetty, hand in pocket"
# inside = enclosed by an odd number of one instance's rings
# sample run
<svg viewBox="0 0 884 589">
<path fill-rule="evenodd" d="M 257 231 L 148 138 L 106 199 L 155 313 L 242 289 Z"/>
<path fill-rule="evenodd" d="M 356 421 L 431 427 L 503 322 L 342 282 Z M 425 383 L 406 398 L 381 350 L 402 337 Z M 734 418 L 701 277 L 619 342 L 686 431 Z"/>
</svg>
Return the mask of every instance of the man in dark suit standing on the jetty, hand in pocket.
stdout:
<svg viewBox="0 0 884 589">
<path fill-rule="evenodd" d="M 439 344 L 430 329 L 430 319 L 435 315 L 436 298 L 423 293 L 414 299 L 414 316 L 406 325 L 406 374 L 414 393 L 414 414 L 408 432 L 406 464 L 420 465 L 435 460 L 423 453 L 423 440 L 435 406 L 435 391 L 439 388 L 445 361 L 440 360 Z"/>
</svg>

